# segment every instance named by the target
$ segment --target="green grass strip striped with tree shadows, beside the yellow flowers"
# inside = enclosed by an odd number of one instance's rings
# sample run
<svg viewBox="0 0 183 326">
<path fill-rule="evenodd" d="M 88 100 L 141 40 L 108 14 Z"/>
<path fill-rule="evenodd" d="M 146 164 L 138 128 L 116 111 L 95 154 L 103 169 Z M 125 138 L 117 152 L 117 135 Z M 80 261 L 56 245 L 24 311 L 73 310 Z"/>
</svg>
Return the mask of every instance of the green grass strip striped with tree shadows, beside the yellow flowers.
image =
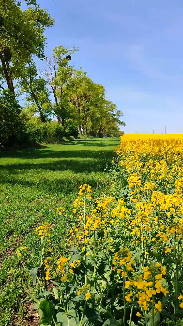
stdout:
<svg viewBox="0 0 183 326">
<path fill-rule="evenodd" d="M 0 153 L 0 293 L 11 287 L 18 267 L 18 279 L 24 278 L 15 249 L 23 245 L 36 251 L 36 226 L 50 223 L 56 250 L 62 251 L 68 229 L 56 209 L 69 207 L 72 212 L 81 184 L 87 183 L 96 191 L 105 187 L 103 170 L 119 141 L 78 139 Z M 23 282 L 29 279 L 25 277 Z M 24 317 L 21 299 L 21 290 L 0 299 L 0 325 L 16 324 L 12 321 L 14 314 Z"/>
</svg>

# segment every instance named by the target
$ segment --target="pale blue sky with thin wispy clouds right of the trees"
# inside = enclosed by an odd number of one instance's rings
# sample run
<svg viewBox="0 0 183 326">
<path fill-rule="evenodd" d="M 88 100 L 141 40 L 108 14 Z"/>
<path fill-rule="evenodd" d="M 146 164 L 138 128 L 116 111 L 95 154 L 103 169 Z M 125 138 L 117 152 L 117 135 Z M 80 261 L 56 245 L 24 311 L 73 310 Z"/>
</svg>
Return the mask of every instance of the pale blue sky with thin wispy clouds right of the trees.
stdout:
<svg viewBox="0 0 183 326">
<path fill-rule="evenodd" d="M 39 0 L 56 20 L 47 56 L 62 44 L 124 113 L 125 133 L 183 132 L 182 0 Z"/>
</svg>

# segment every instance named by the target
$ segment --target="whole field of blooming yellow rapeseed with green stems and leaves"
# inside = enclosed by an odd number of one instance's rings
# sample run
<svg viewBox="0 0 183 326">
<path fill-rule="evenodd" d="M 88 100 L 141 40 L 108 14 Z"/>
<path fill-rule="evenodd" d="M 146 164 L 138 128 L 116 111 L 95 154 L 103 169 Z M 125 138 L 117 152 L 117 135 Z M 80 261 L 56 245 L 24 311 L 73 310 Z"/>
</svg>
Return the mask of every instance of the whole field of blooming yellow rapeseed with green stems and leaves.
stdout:
<svg viewBox="0 0 183 326">
<path fill-rule="evenodd" d="M 64 253 L 54 255 L 46 223 L 35 230 L 40 257 L 17 250 L 45 325 L 183 325 L 183 134 L 123 135 L 116 155 L 110 197 L 84 184 L 73 214 L 58 208 Z"/>
</svg>

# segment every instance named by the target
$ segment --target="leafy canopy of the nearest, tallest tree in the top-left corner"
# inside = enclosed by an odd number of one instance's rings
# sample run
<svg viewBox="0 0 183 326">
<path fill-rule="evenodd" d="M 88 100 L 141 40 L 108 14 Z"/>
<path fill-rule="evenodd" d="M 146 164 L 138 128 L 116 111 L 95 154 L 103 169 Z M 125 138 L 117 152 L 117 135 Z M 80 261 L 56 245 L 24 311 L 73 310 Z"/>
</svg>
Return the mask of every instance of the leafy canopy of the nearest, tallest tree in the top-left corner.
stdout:
<svg viewBox="0 0 183 326">
<path fill-rule="evenodd" d="M 19 66 L 29 62 L 33 54 L 44 58 L 44 31 L 54 23 L 53 18 L 35 0 L 25 2 L 34 6 L 22 10 L 22 1 L 0 0 L 0 72 L 12 93 L 13 79 L 17 77 Z"/>
</svg>

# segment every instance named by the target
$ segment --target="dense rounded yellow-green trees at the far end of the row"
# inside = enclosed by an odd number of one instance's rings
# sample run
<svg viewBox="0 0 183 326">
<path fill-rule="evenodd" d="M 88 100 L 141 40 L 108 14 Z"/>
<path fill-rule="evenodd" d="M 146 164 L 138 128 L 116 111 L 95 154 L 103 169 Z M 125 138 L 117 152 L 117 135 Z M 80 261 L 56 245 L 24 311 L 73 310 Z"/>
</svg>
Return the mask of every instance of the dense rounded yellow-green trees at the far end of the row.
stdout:
<svg viewBox="0 0 183 326">
<path fill-rule="evenodd" d="M 119 119 L 122 112 L 106 100 L 104 86 L 92 82 L 82 68 L 73 71 L 66 89 L 69 103 L 77 110 L 80 135 L 83 129 L 86 136 L 112 136 L 119 131 L 118 124 L 125 125 Z"/>
</svg>

